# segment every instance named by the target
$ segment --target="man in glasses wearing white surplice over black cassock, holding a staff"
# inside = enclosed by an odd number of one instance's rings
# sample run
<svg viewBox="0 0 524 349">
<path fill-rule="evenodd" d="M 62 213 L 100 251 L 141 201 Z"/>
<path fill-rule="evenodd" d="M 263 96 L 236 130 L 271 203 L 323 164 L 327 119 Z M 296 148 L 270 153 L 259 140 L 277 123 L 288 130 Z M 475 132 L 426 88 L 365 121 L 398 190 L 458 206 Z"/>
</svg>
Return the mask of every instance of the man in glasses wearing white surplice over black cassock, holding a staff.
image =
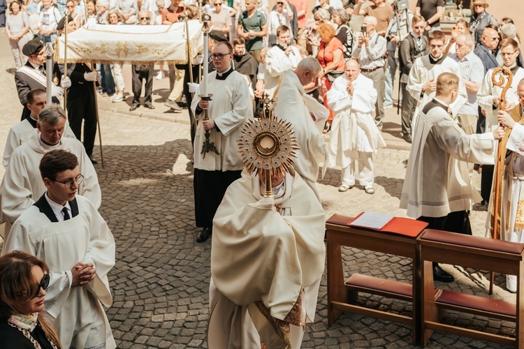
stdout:
<svg viewBox="0 0 524 349">
<path fill-rule="evenodd" d="M 213 47 L 212 59 L 217 70 L 209 73 L 208 94 L 212 101 L 203 101 L 203 84 L 196 90 L 191 103 L 198 126 L 194 143 L 194 194 L 196 226 L 203 228 L 197 242 L 205 242 L 212 234 L 214 212 L 229 184 L 240 178 L 242 159 L 238 154 L 238 139 L 242 125 L 253 117 L 252 102 L 244 77 L 231 68 L 233 47 L 229 43 L 217 43 Z M 204 110 L 209 120 L 203 120 Z M 210 142 L 214 151 L 202 153 L 205 131 L 210 131 Z"/>
</svg>

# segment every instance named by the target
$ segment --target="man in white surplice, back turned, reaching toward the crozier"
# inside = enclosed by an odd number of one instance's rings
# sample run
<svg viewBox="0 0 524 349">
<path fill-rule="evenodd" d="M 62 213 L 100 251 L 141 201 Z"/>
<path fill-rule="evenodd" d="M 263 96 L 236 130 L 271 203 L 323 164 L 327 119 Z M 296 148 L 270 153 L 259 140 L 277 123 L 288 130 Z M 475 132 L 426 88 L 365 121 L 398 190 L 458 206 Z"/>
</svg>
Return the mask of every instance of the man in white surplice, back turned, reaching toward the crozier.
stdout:
<svg viewBox="0 0 524 349">
<path fill-rule="evenodd" d="M 428 222 L 428 228 L 471 234 L 467 211 L 474 202 L 467 162 L 484 163 L 493 154 L 493 140 L 504 131 L 466 135 L 448 112 L 458 96 L 459 79 L 453 73 L 437 78 L 433 100 L 420 115 L 400 197 L 407 216 Z M 451 282 L 453 276 L 434 263 L 433 278 Z"/>
</svg>

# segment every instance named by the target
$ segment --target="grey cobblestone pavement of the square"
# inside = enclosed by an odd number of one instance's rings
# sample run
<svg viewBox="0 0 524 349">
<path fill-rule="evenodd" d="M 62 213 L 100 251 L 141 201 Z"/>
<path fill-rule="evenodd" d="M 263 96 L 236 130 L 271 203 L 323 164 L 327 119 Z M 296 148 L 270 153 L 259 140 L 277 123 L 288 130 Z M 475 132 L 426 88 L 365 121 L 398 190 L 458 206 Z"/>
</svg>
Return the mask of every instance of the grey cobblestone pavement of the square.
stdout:
<svg viewBox="0 0 524 349">
<path fill-rule="evenodd" d="M 20 117 L 12 57 L 7 38 L 0 31 L 0 92 L 4 96 L 0 118 L 0 151 L 8 128 Z M 129 84 L 129 66 L 126 86 Z M 126 89 L 129 91 L 129 89 Z M 96 165 L 102 188 L 101 214 L 117 242 L 117 263 L 110 272 L 114 304 L 108 309 L 119 348 L 207 348 L 210 278 L 210 241 L 195 242 L 192 191 L 191 142 L 187 112 L 172 114 L 163 107 L 168 94 L 167 79 L 154 81 L 154 112 L 99 98 L 105 167 Z M 129 103 L 128 98 L 128 103 Z M 384 137 L 388 148 L 375 160 L 376 193 L 367 195 L 361 186 L 339 193 L 340 170 L 330 169 L 317 184 L 326 218 L 339 213 L 354 216 L 374 210 L 405 216 L 398 208 L 408 144 L 400 139 L 396 110 L 387 110 Z M 177 122 L 174 122 L 174 121 Z M 98 140 L 97 140 L 98 142 Z M 99 147 L 94 155 L 100 159 Z M 3 168 L 0 169 L 0 177 Z M 479 183 L 478 174 L 474 181 Z M 483 235 L 485 212 L 472 212 L 476 235 Z M 343 249 L 344 270 L 409 281 L 410 260 L 394 255 Z M 456 282 L 439 287 L 486 294 L 486 273 L 444 266 Z M 504 278 L 497 276 L 497 285 Z M 495 296 L 515 300 L 495 287 Z M 326 276 L 324 275 L 314 325 L 306 328 L 304 348 L 403 348 L 411 347 L 411 328 L 361 315 L 344 314 L 327 326 Z M 377 306 L 409 315 L 411 306 L 381 297 L 362 299 Z M 464 323 L 486 332 L 513 333 L 514 324 L 450 313 L 448 321 Z M 434 334 L 427 348 L 501 348 L 492 343 L 464 337 Z"/>
</svg>

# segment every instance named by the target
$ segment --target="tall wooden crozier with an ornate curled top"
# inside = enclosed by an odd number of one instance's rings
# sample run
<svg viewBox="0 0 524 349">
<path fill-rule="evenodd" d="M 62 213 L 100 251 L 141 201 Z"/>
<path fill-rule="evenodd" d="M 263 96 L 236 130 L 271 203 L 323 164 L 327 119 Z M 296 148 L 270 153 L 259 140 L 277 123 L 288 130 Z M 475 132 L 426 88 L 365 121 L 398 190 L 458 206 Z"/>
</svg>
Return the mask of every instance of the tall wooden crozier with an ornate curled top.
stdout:
<svg viewBox="0 0 524 349">
<path fill-rule="evenodd" d="M 497 74 L 499 74 L 499 79 L 497 80 Z M 502 73 L 505 73 L 507 75 L 507 82 L 506 77 Z M 493 75 L 491 75 L 491 82 L 493 82 L 494 86 L 502 87 L 502 92 L 500 94 L 500 103 L 499 103 L 499 110 L 505 111 L 506 110 L 506 92 L 511 87 L 511 82 L 513 82 L 513 74 L 511 73 L 511 70 L 504 66 L 500 66 L 499 68 L 496 68 L 493 70 Z M 502 126 L 502 124 L 500 125 Z M 502 236 L 501 229 L 499 222 L 497 220 L 497 217 L 499 216 L 499 210 L 502 209 L 500 206 L 500 188 L 502 183 L 502 176 L 500 176 L 500 154 L 502 154 L 502 142 L 498 141 L 497 144 L 497 156 L 495 156 L 495 181 L 493 181 L 493 185 L 495 186 L 495 192 L 493 193 L 493 216 L 491 220 L 491 237 L 493 239 L 500 239 Z M 500 215 L 502 219 L 502 214 Z M 500 222 L 502 224 L 502 221 Z M 493 283 L 495 281 L 495 273 L 490 273 L 490 289 L 489 294 L 493 295 Z"/>
</svg>

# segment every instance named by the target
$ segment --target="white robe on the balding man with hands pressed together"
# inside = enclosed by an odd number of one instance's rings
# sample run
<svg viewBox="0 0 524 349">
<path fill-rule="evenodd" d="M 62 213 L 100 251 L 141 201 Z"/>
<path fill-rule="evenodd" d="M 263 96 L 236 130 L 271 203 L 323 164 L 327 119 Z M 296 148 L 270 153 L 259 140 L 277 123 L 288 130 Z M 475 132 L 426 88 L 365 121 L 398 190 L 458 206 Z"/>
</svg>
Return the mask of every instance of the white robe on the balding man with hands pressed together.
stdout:
<svg viewBox="0 0 524 349">
<path fill-rule="evenodd" d="M 329 142 L 329 166 L 346 168 L 358 161 L 358 152 L 377 154 L 386 142 L 375 124 L 372 113 L 377 101 L 373 81 L 359 74 L 353 82 L 354 93 L 347 92 L 345 74 L 337 77 L 328 91 L 328 103 L 335 112 Z"/>
</svg>

